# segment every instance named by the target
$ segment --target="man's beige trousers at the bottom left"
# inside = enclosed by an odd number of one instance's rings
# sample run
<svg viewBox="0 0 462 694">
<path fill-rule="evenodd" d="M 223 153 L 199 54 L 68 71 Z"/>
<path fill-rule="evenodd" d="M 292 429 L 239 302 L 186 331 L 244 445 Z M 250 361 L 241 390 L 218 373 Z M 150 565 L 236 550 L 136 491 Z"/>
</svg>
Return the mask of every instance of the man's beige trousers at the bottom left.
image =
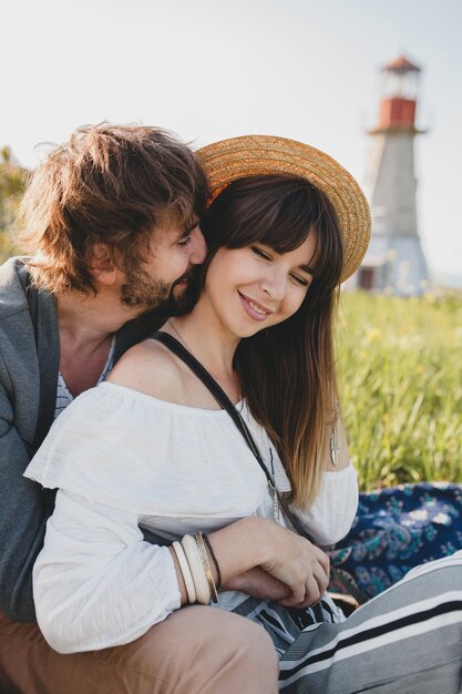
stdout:
<svg viewBox="0 0 462 694">
<path fill-rule="evenodd" d="M 133 643 L 60 655 L 0 612 L 1 694 L 276 694 L 278 661 L 245 618 L 193 605 Z"/>
</svg>

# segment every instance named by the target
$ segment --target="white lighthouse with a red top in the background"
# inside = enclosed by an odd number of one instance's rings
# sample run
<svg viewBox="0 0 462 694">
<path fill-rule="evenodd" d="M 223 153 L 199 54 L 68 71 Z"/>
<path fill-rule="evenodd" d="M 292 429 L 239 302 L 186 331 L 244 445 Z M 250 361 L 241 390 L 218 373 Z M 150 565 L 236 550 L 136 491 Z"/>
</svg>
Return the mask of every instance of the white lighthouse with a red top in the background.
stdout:
<svg viewBox="0 0 462 694">
<path fill-rule="evenodd" d="M 372 215 L 368 253 L 356 286 L 400 296 L 420 295 L 428 267 L 418 233 L 414 139 L 421 70 L 400 55 L 381 70 L 378 125 L 369 131 L 372 150 L 367 172 Z"/>
</svg>

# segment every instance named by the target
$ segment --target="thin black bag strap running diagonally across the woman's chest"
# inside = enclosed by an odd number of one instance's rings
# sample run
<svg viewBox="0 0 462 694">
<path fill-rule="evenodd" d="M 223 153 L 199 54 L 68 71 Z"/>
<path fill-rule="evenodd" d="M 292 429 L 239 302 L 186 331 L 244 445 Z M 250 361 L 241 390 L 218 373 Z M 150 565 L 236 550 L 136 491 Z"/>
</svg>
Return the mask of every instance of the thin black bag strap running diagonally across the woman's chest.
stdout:
<svg viewBox="0 0 462 694">
<path fill-rule="evenodd" d="M 254 453 L 258 465 L 264 471 L 265 477 L 268 481 L 268 484 L 270 486 L 273 492 L 276 494 L 277 500 L 280 507 L 284 509 L 286 517 L 289 519 L 295 530 L 297 530 L 297 532 L 301 537 L 309 540 L 312 544 L 316 544 L 312 538 L 310 538 L 309 533 L 298 522 L 294 513 L 290 511 L 286 500 L 277 491 L 274 479 L 271 478 L 269 470 L 266 467 L 261 458 L 258 447 L 255 443 L 254 438 L 250 431 L 248 430 L 246 422 L 244 421 L 240 412 L 235 408 L 233 402 L 229 400 L 228 396 L 223 390 L 222 386 L 217 384 L 217 381 L 203 367 L 201 361 L 197 361 L 197 359 L 191 354 L 191 351 L 188 351 L 175 337 L 173 337 L 172 335 L 168 335 L 167 333 L 161 333 L 158 330 L 156 330 L 155 333 L 152 333 L 150 337 L 165 345 L 165 347 L 167 347 L 179 359 L 182 359 L 182 361 L 184 361 L 191 368 L 191 370 L 194 371 L 197 378 L 199 378 L 202 382 L 208 388 L 208 390 L 212 392 L 212 395 L 217 400 L 217 402 L 223 407 L 223 409 L 225 409 L 228 412 L 229 417 L 233 419 L 237 429 L 243 435 L 247 446 Z M 355 585 L 355 583 L 348 579 L 348 576 L 341 575 L 339 571 L 337 571 L 337 569 L 332 565 L 330 565 L 330 572 L 331 572 L 331 575 L 347 589 L 347 591 L 355 598 L 355 600 L 358 601 L 359 604 L 365 604 L 366 602 L 368 602 L 369 600 L 368 595 L 366 595 L 366 593 L 363 593 L 360 589 L 358 589 Z"/>
</svg>

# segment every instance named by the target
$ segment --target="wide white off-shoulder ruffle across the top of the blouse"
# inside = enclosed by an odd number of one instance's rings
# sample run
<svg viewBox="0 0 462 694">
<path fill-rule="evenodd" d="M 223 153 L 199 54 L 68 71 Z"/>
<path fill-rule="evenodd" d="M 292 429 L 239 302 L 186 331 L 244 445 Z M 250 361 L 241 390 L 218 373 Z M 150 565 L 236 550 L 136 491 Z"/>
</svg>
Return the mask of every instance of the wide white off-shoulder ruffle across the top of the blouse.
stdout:
<svg viewBox="0 0 462 694">
<path fill-rule="evenodd" d="M 111 382 L 60 415 L 25 477 L 160 518 L 242 518 L 266 494 L 265 477 L 226 411 L 183 407 Z"/>
</svg>

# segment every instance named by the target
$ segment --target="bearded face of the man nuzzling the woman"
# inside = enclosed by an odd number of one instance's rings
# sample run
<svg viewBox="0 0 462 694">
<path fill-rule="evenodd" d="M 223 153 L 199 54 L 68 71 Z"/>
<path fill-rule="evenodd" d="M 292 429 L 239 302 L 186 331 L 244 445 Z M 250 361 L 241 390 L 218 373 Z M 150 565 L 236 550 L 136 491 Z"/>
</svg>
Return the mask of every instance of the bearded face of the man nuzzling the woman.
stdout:
<svg viewBox="0 0 462 694">
<path fill-rule="evenodd" d="M 167 221 L 151 234 L 148 253 L 140 269 L 127 272 L 121 288 L 125 306 L 138 313 L 157 310 L 177 316 L 191 310 L 199 292 L 201 268 L 207 247 L 197 225 L 186 228 Z"/>
</svg>

